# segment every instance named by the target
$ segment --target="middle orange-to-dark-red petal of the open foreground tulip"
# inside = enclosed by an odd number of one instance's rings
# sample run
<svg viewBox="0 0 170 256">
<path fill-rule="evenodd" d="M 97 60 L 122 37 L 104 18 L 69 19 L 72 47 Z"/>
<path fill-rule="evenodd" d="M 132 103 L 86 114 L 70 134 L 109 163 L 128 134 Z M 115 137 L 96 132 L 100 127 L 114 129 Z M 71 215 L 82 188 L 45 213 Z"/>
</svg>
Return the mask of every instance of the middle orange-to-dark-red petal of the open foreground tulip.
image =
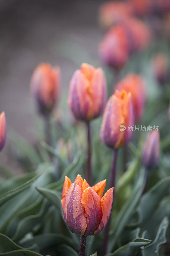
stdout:
<svg viewBox="0 0 170 256">
<path fill-rule="evenodd" d="M 81 203 L 87 214 L 85 236 L 92 235 L 98 228 L 102 219 L 100 197 L 91 187 L 89 187 L 83 191 Z"/>
</svg>

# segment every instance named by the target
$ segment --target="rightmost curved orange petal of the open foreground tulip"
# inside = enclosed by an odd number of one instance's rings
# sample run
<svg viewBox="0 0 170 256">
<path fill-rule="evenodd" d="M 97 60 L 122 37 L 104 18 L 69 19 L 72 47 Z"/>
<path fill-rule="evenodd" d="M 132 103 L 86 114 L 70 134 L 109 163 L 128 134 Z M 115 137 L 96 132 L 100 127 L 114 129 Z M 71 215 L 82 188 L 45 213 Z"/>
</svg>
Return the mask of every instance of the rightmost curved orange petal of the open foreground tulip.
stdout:
<svg viewBox="0 0 170 256">
<path fill-rule="evenodd" d="M 113 188 L 107 190 L 104 196 L 101 198 L 101 207 L 102 207 L 102 219 L 100 221 L 98 229 L 94 232 L 93 235 L 97 235 L 100 231 L 106 226 L 107 221 L 110 217 L 111 209 L 113 202 Z"/>
</svg>

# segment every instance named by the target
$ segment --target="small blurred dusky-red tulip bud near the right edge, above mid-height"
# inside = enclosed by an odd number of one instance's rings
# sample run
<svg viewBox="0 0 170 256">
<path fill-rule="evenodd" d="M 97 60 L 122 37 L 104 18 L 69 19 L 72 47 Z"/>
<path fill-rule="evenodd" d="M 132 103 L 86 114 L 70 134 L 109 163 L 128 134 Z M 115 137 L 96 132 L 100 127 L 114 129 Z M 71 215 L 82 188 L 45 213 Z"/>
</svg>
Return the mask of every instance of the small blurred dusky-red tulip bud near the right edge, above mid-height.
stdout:
<svg viewBox="0 0 170 256">
<path fill-rule="evenodd" d="M 153 73 L 160 84 L 164 84 L 167 78 L 168 58 L 163 52 L 159 52 L 153 58 Z"/>
</svg>

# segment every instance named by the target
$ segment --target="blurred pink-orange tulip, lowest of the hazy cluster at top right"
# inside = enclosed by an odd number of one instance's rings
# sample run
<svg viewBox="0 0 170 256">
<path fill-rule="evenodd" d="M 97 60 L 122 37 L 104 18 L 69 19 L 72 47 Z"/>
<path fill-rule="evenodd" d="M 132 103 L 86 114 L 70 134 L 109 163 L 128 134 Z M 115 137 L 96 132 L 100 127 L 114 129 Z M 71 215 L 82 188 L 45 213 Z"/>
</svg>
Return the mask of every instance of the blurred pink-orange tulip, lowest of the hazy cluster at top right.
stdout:
<svg viewBox="0 0 170 256">
<path fill-rule="evenodd" d="M 110 28 L 99 45 L 101 60 L 108 66 L 120 69 L 129 59 L 129 38 L 122 25 Z"/>
</svg>

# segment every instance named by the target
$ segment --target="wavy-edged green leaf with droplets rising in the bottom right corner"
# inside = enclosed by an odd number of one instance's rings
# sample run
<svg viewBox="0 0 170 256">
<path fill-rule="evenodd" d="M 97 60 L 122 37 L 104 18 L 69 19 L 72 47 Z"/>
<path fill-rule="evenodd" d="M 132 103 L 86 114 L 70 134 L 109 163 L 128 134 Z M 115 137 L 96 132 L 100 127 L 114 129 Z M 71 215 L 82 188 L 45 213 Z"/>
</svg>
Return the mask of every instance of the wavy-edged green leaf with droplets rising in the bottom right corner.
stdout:
<svg viewBox="0 0 170 256">
<path fill-rule="evenodd" d="M 143 256 L 159 256 L 159 247 L 161 244 L 166 243 L 166 230 L 168 228 L 169 221 L 168 218 L 165 217 L 159 226 L 158 232 L 156 234 L 155 240 L 152 244 L 146 246 L 142 251 Z"/>
</svg>

